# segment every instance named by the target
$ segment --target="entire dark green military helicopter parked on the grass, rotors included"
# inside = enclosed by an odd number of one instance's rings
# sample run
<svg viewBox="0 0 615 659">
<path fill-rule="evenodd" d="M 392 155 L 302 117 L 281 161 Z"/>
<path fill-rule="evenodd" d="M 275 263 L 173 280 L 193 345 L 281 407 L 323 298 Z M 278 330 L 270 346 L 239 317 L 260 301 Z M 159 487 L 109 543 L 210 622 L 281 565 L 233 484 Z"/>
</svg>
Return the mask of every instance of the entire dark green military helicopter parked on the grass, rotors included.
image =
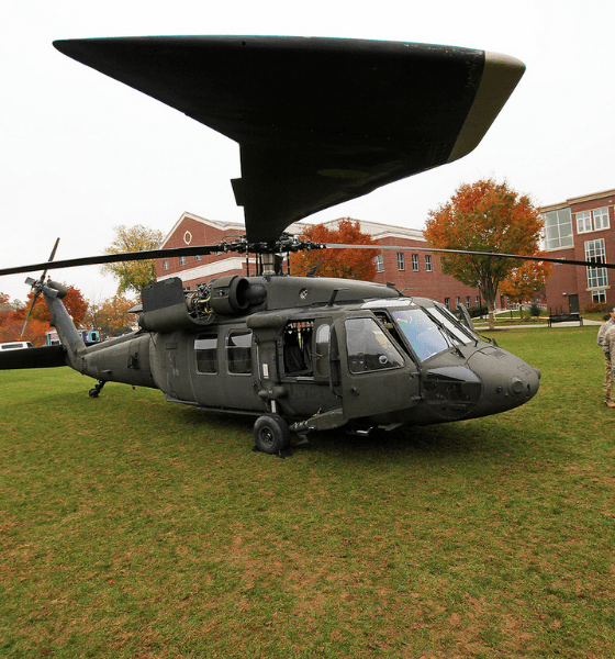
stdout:
<svg viewBox="0 0 615 659">
<path fill-rule="evenodd" d="M 291 432 L 367 435 L 496 414 L 536 394 L 539 371 L 479 336 L 467 314 L 461 323 L 393 286 L 280 272 L 283 254 L 336 247 L 286 234 L 291 223 L 471 152 L 523 75 L 521 62 L 337 38 L 54 45 L 236 141 L 242 178 L 232 183 L 246 235 L 70 260 L 54 260 L 54 247 L 46 263 L 0 270 L 44 270 L 26 282 L 43 294 L 63 344 L 1 355 L 0 368 L 70 366 L 97 381 L 91 398 L 125 382 L 159 389 L 169 402 L 254 415 L 256 448 L 279 455 Z M 45 280 L 54 268 L 231 250 L 255 255 L 256 275 L 194 291 L 179 278 L 153 283 L 136 310 L 139 330 L 91 346 L 64 308 L 66 289 Z"/>
</svg>

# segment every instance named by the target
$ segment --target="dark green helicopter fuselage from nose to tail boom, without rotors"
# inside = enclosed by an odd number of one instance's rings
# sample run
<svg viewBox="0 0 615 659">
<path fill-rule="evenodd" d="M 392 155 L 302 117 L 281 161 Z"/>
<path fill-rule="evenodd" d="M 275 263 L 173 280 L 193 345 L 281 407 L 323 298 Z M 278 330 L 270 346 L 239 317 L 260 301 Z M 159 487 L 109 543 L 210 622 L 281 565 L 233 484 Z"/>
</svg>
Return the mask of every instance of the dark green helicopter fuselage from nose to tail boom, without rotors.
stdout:
<svg viewBox="0 0 615 659">
<path fill-rule="evenodd" d="M 248 283 L 267 289 L 264 279 Z M 276 412 L 299 420 L 295 427 L 303 431 L 349 421 L 473 418 L 516 407 L 538 391 L 536 369 L 437 302 L 388 287 L 377 291 L 385 297 L 353 300 L 359 292 L 353 284 L 344 290 L 332 280 L 284 279 L 292 284 L 282 284 L 283 294 L 267 289 L 257 309 L 212 313 L 198 326 L 179 323 L 177 330 L 165 320 L 168 331 L 141 330 L 80 348 L 72 366 L 101 382 L 160 389 L 171 402 Z M 314 283 L 326 291 L 312 294 Z"/>
</svg>

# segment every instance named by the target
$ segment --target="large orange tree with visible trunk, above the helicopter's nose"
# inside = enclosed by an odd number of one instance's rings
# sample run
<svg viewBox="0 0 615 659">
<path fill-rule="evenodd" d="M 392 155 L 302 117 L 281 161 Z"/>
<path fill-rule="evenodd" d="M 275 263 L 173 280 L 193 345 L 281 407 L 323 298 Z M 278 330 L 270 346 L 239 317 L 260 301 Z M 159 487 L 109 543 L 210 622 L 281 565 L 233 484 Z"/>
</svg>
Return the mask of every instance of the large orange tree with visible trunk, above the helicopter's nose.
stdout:
<svg viewBox="0 0 615 659">
<path fill-rule="evenodd" d="M 538 250 L 543 217 L 528 196 L 493 179 L 461 185 L 451 199 L 429 211 L 424 235 L 432 247 L 532 256 Z M 518 267 L 514 259 L 449 254 L 443 272 L 479 288 L 493 327 L 495 297 Z"/>
</svg>

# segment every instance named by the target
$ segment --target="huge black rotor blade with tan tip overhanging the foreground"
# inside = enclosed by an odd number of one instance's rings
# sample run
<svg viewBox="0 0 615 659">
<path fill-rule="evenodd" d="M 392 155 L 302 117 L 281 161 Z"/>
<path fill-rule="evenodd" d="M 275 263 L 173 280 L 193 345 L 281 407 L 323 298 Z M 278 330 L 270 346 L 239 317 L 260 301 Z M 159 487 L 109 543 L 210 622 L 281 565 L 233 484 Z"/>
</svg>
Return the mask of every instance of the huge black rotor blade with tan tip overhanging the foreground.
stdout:
<svg viewBox="0 0 615 659">
<path fill-rule="evenodd" d="M 239 144 L 251 243 L 451 163 L 482 139 L 525 66 L 483 51 L 369 40 L 156 36 L 55 47 Z"/>
</svg>

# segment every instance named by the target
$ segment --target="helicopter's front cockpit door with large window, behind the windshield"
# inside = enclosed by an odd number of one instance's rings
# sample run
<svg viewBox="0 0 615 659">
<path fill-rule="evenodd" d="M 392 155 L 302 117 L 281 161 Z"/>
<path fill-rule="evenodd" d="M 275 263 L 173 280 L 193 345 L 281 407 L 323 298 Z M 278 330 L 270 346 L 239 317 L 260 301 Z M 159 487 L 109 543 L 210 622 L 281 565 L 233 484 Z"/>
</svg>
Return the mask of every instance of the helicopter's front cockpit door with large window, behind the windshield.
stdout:
<svg viewBox="0 0 615 659">
<path fill-rule="evenodd" d="M 344 418 L 374 416 L 416 404 L 416 365 L 369 312 L 334 322 L 332 387 L 342 394 Z"/>
</svg>

